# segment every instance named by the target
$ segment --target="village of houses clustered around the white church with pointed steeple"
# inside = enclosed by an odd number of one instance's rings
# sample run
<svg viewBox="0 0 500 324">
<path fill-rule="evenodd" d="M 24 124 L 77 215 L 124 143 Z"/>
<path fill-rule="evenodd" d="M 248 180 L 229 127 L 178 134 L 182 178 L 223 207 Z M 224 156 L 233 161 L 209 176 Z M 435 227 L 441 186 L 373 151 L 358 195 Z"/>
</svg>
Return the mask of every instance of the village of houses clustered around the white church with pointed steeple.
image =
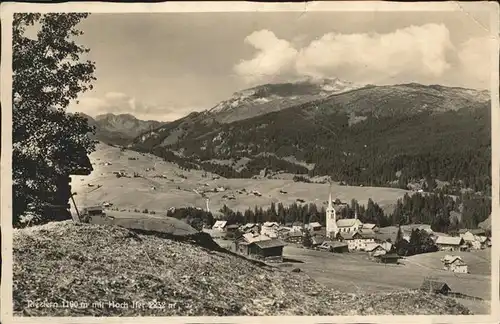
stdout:
<svg viewBox="0 0 500 324">
<path fill-rule="evenodd" d="M 379 228 L 376 224 L 362 223 L 357 213 L 354 218 L 337 219 L 341 208 L 342 204 L 335 204 L 330 194 L 326 226 L 319 222 L 228 224 L 217 220 L 203 231 L 235 253 L 269 263 L 284 262 L 284 247 L 293 246 L 325 253 L 365 254 L 369 260 L 385 264 L 398 264 L 405 256 L 404 250 L 397 250 L 396 242 L 400 246 L 410 245 L 412 233 L 422 232 L 430 239 L 427 253 L 450 253 L 441 258 L 442 270 L 463 274 L 470 273 L 468 265 L 453 253 L 483 250 L 492 244 L 483 229 L 460 229 L 456 235 L 450 235 L 434 232 L 427 224 Z"/>
</svg>

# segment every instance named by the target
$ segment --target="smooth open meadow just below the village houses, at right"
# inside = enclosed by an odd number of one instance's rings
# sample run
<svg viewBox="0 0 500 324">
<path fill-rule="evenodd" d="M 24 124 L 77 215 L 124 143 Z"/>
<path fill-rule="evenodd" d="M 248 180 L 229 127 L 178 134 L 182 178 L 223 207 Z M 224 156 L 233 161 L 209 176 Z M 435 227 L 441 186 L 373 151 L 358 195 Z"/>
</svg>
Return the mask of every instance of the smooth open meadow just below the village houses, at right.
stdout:
<svg viewBox="0 0 500 324">
<path fill-rule="evenodd" d="M 417 255 L 401 260 L 401 264 L 379 264 L 368 259 L 366 253 L 333 254 L 286 246 L 284 256 L 301 261 L 295 263 L 312 278 L 326 286 L 343 292 L 370 293 L 397 289 L 417 289 L 425 277 L 446 282 L 452 291 L 479 297 L 487 301 L 459 299 L 468 304 L 474 313 L 490 313 L 491 275 L 488 268 L 491 250 L 464 252 L 464 260 L 470 264 L 470 274 L 458 274 L 441 270 L 443 252 Z M 449 254 L 449 253 L 448 253 Z M 419 265 L 417 265 L 417 262 Z"/>
</svg>

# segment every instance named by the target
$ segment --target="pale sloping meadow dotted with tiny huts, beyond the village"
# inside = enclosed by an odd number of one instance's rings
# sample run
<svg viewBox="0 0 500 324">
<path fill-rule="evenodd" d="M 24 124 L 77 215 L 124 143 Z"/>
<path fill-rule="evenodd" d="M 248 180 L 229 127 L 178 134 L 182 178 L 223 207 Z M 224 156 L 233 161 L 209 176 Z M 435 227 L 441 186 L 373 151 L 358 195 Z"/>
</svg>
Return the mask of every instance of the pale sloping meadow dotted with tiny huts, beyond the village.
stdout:
<svg viewBox="0 0 500 324">
<path fill-rule="evenodd" d="M 255 206 L 267 208 L 271 202 L 290 205 L 297 199 L 305 203 L 326 203 L 328 185 L 301 183 L 287 179 L 225 179 L 204 171 L 183 171 L 177 165 L 162 159 L 130 150 L 99 144 L 90 155 L 94 171 L 89 176 L 73 176 L 72 190 L 79 207 L 110 202 L 120 210 L 135 209 L 164 212 L 171 207 L 206 208 L 205 199 L 194 190 L 206 191 L 210 210 L 219 210 L 224 204 L 243 211 Z M 113 172 L 123 171 L 129 177 L 117 178 Z M 133 177 L 134 173 L 138 177 Z M 218 179 L 217 179 L 218 178 Z M 101 186 L 101 187 L 99 187 Z M 223 187 L 224 191 L 213 192 Z M 238 193 L 245 189 L 246 193 Z M 262 196 L 250 192 L 256 190 Z M 280 193 L 286 191 L 286 194 Z M 357 199 L 366 204 L 372 198 L 382 208 L 390 208 L 398 198 L 409 191 L 392 188 L 351 187 L 334 185 L 334 198 L 350 202 Z M 211 192 L 210 192 L 211 191 Z M 226 195 L 234 195 L 227 200 Z M 73 206 L 72 206 L 73 208 Z"/>
</svg>

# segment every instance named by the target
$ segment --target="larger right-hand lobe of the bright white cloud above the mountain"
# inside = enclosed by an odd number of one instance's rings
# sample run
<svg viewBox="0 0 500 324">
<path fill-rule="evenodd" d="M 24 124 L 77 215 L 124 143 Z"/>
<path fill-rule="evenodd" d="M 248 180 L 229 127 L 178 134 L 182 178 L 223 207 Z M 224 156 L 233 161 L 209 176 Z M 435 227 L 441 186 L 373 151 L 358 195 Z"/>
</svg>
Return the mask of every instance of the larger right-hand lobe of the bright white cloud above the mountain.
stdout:
<svg viewBox="0 0 500 324">
<path fill-rule="evenodd" d="M 340 70 L 372 75 L 441 76 L 450 68 L 451 49 L 444 25 L 410 26 L 387 34 L 323 35 L 302 49 L 296 60 L 299 74 L 331 76 Z"/>
</svg>

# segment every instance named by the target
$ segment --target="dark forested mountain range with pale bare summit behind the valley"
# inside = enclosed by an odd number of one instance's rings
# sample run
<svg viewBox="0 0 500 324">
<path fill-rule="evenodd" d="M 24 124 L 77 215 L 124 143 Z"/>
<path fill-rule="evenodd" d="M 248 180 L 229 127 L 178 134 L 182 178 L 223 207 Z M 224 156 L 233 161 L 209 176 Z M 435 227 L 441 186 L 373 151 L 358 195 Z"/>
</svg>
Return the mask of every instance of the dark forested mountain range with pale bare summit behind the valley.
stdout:
<svg viewBox="0 0 500 324">
<path fill-rule="evenodd" d="M 490 113 L 488 91 L 322 79 L 242 90 L 169 123 L 96 122 L 101 138 L 118 134 L 131 149 L 225 177 L 267 169 L 351 185 L 427 179 L 488 191 Z"/>
</svg>

